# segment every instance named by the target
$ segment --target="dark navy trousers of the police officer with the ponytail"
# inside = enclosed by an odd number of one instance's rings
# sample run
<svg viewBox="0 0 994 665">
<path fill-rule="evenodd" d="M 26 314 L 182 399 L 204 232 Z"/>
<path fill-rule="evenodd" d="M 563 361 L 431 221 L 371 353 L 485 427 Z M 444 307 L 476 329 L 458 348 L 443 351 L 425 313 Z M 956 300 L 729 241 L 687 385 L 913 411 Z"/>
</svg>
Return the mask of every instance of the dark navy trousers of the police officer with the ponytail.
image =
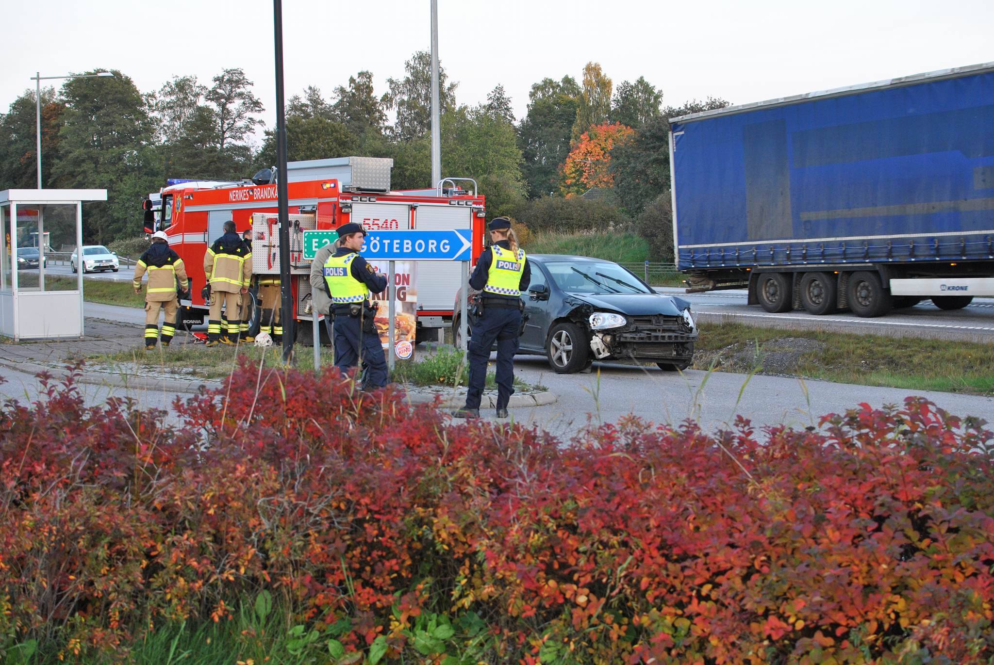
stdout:
<svg viewBox="0 0 994 665">
<path fill-rule="evenodd" d="M 469 338 L 469 387 L 466 409 L 479 409 L 487 381 L 490 348 L 497 342 L 497 409 L 507 409 L 514 395 L 514 354 L 518 352 L 521 310 L 517 307 L 483 307 Z"/>
</svg>

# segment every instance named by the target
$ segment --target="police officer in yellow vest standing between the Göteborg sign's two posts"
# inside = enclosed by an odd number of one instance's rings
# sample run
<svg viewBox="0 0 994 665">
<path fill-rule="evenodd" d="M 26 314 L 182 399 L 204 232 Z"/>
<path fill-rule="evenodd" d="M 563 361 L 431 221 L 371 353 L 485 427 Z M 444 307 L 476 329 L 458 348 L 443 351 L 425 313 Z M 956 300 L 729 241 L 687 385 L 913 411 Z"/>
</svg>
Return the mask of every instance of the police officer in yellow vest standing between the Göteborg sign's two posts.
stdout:
<svg viewBox="0 0 994 665">
<path fill-rule="evenodd" d="M 339 248 L 324 262 L 324 281 L 335 316 L 335 367 L 344 374 L 362 365 L 363 390 L 387 385 L 387 358 L 380 344 L 370 304 L 370 293 L 387 288 L 387 277 L 379 274 L 359 255 L 366 230 L 349 223 L 338 228 Z"/>
</svg>

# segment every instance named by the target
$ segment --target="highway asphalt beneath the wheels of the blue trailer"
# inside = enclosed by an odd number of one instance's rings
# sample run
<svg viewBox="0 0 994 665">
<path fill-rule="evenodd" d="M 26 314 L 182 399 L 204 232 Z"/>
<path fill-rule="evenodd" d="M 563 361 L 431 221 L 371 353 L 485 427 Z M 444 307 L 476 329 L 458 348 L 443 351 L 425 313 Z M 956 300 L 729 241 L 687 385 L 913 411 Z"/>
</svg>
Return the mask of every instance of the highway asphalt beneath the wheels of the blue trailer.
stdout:
<svg viewBox="0 0 994 665">
<path fill-rule="evenodd" d="M 679 295 L 692 303 L 699 319 L 708 323 L 744 323 L 763 327 L 832 330 L 895 337 L 928 337 L 994 343 L 994 298 L 974 298 L 969 306 L 944 311 L 930 300 L 897 309 L 887 316 L 865 319 L 852 312 L 815 316 L 803 310 L 770 314 L 759 305 L 746 305 L 745 290 L 686 293 L 682 288 L 657 286 L 659 293 Z"/>
</svg>

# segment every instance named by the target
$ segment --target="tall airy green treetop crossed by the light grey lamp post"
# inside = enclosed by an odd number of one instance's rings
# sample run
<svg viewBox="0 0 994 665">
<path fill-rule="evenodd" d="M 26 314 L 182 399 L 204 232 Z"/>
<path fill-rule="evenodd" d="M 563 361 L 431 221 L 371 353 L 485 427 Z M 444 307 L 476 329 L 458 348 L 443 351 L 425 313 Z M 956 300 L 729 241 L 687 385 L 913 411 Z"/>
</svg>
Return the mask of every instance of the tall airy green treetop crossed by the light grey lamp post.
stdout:
<svg viewBox="0 0 994 665">
<path fill-rule="evenodd" d="M 395 138 L 407 141 L 423 135 L 431 128 L 431 54 L 414 53 L 404 64 L 407 76 L 402 80 L 388 79 L 390 92 L 386 95 L 388 108 L 397 109 Z M 455 88 L 458 83 L 446 83 L 441 64 L 438 65 L 438 99 L 442 114 L 455 108 Z"/>
</svg>

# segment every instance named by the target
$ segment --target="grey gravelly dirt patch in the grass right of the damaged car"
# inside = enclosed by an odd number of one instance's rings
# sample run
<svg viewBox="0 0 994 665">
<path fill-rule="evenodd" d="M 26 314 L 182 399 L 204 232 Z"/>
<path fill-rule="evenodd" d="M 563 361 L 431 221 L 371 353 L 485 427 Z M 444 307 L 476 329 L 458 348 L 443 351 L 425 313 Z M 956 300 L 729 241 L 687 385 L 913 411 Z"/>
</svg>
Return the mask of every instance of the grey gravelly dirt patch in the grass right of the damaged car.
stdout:
<svg viewBox="0 0 994 665">
<path fill-rule="evenodd" d="M 694 354 L 694 369 L 708 370 L 714 364 L 722 372 L 794 376 L 802 357 L 824 350 L 825 344 L 806 337 L 784 337 L 756 344 L 739 342 L 718 350 Z"/>
</svg>

